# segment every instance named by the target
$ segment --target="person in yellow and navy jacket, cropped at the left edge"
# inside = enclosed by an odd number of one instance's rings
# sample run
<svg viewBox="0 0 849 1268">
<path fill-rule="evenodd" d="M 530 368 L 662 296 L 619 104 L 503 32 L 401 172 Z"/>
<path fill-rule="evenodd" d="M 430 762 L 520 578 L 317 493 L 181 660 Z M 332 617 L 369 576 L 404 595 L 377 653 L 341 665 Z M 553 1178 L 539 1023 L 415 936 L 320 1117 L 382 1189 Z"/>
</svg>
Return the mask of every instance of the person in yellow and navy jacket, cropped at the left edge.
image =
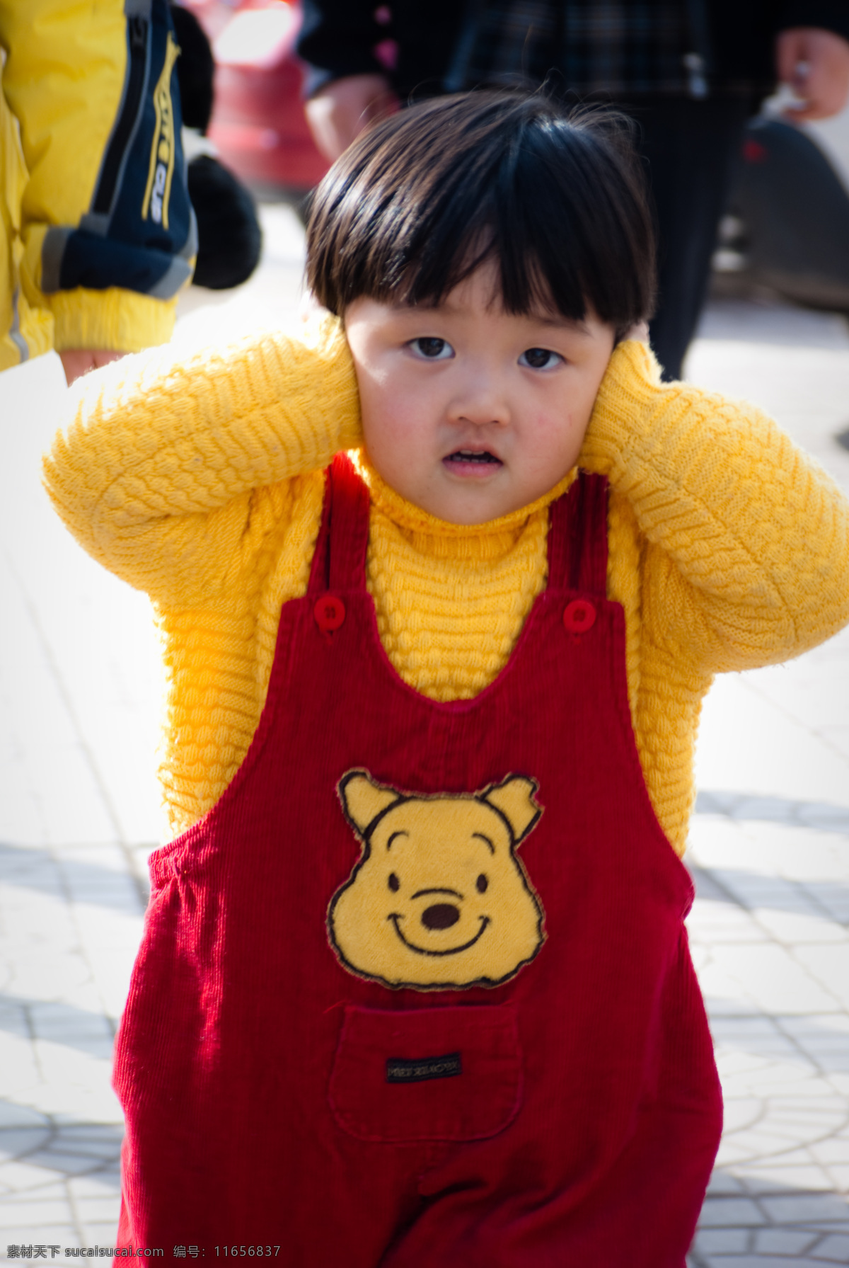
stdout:
<svg viewBox="0 0 849 1268">
<path fill-rule="evenodd" d="M 0 0 L 0 370 L 163 344 L 196 251 L 166 0 Z"/>
</svg>

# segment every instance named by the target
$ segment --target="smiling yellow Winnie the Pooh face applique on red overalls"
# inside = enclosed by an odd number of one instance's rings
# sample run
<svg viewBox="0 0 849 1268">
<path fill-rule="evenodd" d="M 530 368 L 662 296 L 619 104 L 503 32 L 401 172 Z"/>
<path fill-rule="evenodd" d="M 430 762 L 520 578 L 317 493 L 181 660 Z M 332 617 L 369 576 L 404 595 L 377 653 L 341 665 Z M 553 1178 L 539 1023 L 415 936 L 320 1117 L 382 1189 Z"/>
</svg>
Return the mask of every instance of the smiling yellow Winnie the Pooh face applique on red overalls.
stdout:
<svg viewBox="0 0 849 1268">
<path fill-rule="evenodd" d="M 516 850 L 535 827 L 537 785 L 509 775 L 479 792 L 417 796 L 348 771 L 337 785 L 362 842 L 331 899 L 342 965 L 386 987 L 495 987 L 539 952 L 544 912 Z"/>
</svg>

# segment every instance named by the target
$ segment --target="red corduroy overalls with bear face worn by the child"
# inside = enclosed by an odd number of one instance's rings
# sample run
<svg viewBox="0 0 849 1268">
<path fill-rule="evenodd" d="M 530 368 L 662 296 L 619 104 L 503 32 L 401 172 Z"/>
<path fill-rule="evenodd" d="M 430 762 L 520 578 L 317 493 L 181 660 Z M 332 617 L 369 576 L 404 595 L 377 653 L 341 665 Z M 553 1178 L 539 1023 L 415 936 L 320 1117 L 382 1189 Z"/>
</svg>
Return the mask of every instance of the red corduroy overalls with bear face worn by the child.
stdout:
<svg viewBox="0 0 849 1268">
<path fill-rule="evenodd" d="M 582 476 L 554 503 L 508 664 L 437 704 L 380 644 L 369 496 L 335 462 L 250 752 L 151 860 L 115 1056 L 120 1245 L 683 1268 L 721 1098 L 606 501 Z"/>
</svg>

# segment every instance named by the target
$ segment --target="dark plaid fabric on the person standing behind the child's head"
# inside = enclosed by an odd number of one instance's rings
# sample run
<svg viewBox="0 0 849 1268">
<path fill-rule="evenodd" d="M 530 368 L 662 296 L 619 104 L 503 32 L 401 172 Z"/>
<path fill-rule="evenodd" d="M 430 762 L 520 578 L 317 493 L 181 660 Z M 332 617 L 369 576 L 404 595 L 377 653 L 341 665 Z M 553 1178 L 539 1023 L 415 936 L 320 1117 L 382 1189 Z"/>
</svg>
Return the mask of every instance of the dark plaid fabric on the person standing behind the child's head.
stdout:
<svg viewBox="0 0 849 1268">
<path fill-rule="evenodd" d="M 687 0 L 470 0 L 446 87 L 555 70 L 580 95 L 687 94 L 692 52 Z"/>
</svg>

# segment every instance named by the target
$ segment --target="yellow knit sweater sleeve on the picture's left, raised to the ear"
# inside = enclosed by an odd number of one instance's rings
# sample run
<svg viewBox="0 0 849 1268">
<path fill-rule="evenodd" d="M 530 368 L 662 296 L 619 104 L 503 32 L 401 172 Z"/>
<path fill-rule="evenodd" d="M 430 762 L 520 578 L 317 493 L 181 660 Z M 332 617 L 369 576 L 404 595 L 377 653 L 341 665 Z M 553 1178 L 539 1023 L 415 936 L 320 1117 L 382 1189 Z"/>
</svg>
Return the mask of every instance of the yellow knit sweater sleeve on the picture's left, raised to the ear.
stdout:
<svg viewBox="0 0 849 1268">
<path fill-rule="evenodd" d="M 214 601 L 280 530 L 286 484 L 360 444 L 347 342 L 251 336 L 180 360 L 151 349 L 87 375 L 44 460 L 53 505 L 99 563 L 156 602 Z M 275 496 L 261 496 L 274 486 Z"/>
</svg>

